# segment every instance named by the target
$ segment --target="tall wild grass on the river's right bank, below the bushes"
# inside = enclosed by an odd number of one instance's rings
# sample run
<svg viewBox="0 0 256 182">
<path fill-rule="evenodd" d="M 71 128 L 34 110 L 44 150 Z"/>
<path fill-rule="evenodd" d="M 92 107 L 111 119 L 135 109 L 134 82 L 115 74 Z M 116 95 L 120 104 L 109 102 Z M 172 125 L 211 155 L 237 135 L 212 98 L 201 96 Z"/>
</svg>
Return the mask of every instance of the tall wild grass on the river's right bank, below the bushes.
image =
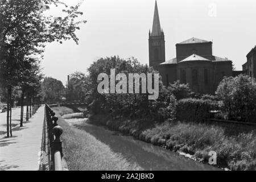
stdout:
<svg viewBox="0 0 256 182">
<path fill-rule="evenodd" d="M 232 170 L 256 169 L 256 135 L 253 132 L 228 137 L 221 127 L 176 122 L 143 131 L 141 139 L 195 155 L 204 162 L 208 162 L 209 151 L 216 151 L 219 166 Z"/>
</svg>

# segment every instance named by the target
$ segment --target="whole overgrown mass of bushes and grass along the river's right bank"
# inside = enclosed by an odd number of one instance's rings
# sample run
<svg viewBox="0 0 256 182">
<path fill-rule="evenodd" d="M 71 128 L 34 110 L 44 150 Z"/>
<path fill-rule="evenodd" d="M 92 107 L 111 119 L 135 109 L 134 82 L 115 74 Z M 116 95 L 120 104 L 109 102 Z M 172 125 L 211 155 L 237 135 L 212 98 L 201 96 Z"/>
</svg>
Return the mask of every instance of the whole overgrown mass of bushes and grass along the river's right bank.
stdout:
<svg viewBox="0 0 256 182">
<path fill-rule="evenodd" d="M 256 134 L 253 128 L 229 124 L 215 126 L 206 122 L 216 116 L 252 122 L 256 118 L 253 78 L 243 75 L 224 78 L 216 96 L 193 93 L 188 84 L 179 81 L 166 87 L 160 80 L 158 100 L 149 101 L 147 94 L 98 93 L 100 81 L 97 76 L 110 74 L 112 68 L 116 74 L 155 73 L 133 58 L 107 57 L 94 62 L 88 69 L 89 76 L 81 80 L 90 88 L 86 95 L 92 114 L 90 121 L 173 151 L 194 155 L 204 162 L 208 162 L 208 152 L 213 150 L 217 152 L 219 166 L 255 170 Z"/>
</svg>

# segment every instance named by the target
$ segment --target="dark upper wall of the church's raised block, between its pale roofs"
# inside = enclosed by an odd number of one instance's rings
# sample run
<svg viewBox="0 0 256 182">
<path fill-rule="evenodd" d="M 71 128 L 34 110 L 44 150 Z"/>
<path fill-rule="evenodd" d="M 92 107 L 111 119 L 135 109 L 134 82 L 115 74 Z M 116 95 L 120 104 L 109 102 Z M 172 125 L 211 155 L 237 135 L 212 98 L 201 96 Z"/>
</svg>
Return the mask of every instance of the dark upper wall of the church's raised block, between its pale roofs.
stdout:
<svg viewBox="0 0 256 182">
<path fill-rule="evenodd" d="M 176 44 L 176 56 L 178 62 L 191 56 L 193 53 L 199 56 L 212 55 L 212 43 Z"/>
</svg>

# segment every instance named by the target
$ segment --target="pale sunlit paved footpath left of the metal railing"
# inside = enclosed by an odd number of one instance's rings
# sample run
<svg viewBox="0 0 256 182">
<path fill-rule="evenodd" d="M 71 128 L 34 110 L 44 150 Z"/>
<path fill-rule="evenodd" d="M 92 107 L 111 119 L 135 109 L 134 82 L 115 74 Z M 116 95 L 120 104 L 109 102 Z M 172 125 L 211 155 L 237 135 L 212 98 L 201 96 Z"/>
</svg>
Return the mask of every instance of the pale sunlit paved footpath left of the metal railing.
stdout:
<svg viewBox="0 0 256 182">
<path fill-rule="evenodd" d="M 44 107 L 41 106 L 29 122 L 24 122 L 23 127 L 17 124 L 19 117 L 20 109 L 14 109 L 13 137 L 6 138 L 6 113 L 0 114 L 0 171 L 37 171 L 39 169 Z"/>
</svg>

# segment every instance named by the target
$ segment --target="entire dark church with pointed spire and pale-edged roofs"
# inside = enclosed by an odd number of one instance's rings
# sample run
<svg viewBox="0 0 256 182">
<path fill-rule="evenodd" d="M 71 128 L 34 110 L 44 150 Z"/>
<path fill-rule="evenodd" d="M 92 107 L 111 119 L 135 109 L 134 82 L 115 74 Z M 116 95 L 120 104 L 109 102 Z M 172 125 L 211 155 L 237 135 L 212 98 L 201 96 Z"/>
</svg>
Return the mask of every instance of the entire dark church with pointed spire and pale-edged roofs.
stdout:
<svg viewBox="0 0 256 182">
<path fill-rule="evenodd" d="M 214 94 L 224 76 L 234 76 L 232 61 L 214 56 L 212 42 L 191 38 L 176 44 L 176 57 L 166 60 L 164 32 L 160 26 L 158 5 L 149 32 L 149 65 L 159 71 L 163 84 L 179 80 L 195 93 Z"/>
</svg>

